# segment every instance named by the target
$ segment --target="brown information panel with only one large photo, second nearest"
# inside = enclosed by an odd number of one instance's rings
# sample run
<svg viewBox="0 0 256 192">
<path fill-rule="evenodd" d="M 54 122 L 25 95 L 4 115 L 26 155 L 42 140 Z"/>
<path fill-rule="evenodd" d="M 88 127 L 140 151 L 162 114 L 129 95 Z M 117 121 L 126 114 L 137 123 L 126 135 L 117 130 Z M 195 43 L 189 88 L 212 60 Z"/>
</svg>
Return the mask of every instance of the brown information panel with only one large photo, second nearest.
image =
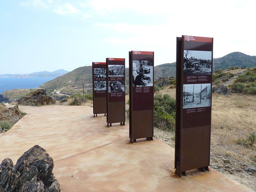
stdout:
<svg viewBox="0 0 256 192">
<path fill-rule="evenodd" d="M 154 136 L 154 52 L 129 52 L 130 142 Z"/>
</svg>

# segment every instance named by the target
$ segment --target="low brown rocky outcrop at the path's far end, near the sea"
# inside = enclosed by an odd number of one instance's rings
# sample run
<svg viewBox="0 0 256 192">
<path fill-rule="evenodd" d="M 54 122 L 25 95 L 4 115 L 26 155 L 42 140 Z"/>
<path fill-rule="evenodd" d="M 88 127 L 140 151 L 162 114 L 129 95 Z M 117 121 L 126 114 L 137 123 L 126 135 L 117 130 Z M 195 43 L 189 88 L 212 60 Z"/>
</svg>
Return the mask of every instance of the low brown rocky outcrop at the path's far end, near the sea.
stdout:
<svg viewBox="0 0 256 192">
<path fill-rule="evenodd" d="M 27 96 L 21 98 L 18 101 L 20 105 L 30 105 L 30 106 L 41 106 L 41 105 L 49 105 L 54 104 L 56 101 L 46 95 L 45 89 L 38 89 L 34 92 L 29 93 Z"/>
</svg>

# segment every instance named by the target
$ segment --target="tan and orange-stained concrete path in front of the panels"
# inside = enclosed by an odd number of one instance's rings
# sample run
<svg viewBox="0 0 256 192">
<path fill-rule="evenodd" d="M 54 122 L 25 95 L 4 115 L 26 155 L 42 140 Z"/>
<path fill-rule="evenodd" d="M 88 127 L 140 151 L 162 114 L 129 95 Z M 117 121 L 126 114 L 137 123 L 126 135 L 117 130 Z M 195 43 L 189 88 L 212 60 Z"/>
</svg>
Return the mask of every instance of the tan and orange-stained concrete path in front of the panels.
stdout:
<svg viewBox="0 0 256 192">
<path fill-rule="evenodd" d="M 174 174 L 174 148 L 156 140 L 129 143 L 129 125 L 107 127 L 87 106 L 20 109 L 28 115 L 0 134 L 0 160 L 14 164 L 39 145 L 52 156 L 62 192 L 84 191 L 253 191 L 221 173 L 192 170 Z"/>
</svg>

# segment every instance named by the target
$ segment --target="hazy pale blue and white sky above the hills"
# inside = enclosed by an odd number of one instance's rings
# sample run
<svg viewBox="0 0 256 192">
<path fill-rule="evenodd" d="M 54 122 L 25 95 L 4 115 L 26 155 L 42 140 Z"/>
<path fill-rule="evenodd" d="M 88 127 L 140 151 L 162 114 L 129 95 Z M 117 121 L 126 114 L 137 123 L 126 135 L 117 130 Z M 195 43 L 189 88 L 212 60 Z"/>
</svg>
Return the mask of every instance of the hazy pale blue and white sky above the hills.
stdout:
<svg viewBox="0 0 256 192">
<path fill-rule="evenodd" d="M 71 71 L 154 51 L 176 60 L 176 36 L 213 37 L 213 57 L 256 55 L 256 1 L 1 0 L 0 74 Z"/>
</svg>

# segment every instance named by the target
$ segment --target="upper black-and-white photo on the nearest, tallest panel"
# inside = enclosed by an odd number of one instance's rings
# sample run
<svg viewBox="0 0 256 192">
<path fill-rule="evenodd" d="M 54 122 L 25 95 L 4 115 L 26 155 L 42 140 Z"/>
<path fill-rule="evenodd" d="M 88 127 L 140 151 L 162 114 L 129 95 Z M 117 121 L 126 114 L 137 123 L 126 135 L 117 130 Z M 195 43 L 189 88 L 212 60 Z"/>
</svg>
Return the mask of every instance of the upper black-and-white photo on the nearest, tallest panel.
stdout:
<svg viewBox="0 0 256 192">
<path fill-rule="evenodd" d="M 212 52 L 184 50 L 184 75 L 211 75 Z"/>
</svg>

